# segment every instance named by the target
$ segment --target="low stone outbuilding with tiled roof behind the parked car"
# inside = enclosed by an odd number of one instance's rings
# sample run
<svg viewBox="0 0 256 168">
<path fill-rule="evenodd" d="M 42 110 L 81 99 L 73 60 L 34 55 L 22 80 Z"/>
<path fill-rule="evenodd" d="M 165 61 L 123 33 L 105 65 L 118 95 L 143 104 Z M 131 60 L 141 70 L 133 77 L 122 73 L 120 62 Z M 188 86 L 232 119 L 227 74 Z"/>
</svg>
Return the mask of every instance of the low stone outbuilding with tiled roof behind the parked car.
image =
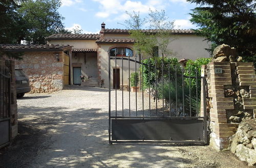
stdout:
<svg viewBox="0 0 256 168">
<path fill-rule="evenodd" d="M 70 45 L 0 44 L 0 48 L 23 54 L 22 60 L 15 60 L 15 68 L 29 76 L 31 93 L 59 91 L 70 85 Z"/>
</svg>

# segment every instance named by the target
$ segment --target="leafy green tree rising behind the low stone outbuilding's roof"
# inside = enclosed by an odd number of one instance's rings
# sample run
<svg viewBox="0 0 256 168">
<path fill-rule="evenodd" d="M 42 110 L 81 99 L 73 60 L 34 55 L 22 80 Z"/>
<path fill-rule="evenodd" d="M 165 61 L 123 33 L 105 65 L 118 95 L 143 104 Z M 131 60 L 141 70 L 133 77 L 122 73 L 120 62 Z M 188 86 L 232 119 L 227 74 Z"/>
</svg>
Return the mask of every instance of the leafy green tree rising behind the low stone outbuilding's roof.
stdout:
<svg viewBox="0 0 256 168">
<path fill-rule="evenodd" d="M 62 23 L 64 18 L 57 11 L 60 5 L 60 0 L 27 0 L 21 3 L 17 12 L 25 21 L 26 35 L 19 40 L 29 44 L 45 44 L 45 37 L 66 32 Z"/>
</svg>

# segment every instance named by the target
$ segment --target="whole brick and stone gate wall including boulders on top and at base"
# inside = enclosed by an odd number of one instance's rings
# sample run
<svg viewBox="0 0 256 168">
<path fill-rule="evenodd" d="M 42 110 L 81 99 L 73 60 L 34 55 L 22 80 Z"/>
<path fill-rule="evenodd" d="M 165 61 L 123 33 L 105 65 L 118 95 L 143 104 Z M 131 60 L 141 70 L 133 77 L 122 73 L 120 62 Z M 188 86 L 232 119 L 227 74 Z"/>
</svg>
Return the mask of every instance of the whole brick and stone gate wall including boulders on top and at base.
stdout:
<svg viewBox="0 0 256 168">
<path fill-rule="evenodd" d="M 256 164 L 256 75 L 234 48 L 221 45 L 206 71 L 210 145 L 229 150 L 249 165 Z M 247 128 L 250 124 L 248 130 Z M 244 154 L 246 153 L 246 154 Z M 246 155 L 246 156 L 245 156 Z M 253 162 L 254 160 L 254 162 Z"/>
</svg>

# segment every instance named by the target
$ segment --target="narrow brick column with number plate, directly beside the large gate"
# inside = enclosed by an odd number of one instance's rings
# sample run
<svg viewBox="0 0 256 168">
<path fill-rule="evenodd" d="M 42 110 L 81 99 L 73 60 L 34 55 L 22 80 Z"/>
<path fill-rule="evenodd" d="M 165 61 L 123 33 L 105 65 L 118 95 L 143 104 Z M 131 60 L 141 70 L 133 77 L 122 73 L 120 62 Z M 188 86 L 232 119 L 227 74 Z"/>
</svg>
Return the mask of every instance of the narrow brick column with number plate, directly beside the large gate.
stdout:
<svg viewBox="0 0 256 168">
<path fill-rule="evenodd" d="M 228 147 L 228 138 L 236 131 L 236 124 L 228 124 L 226 116 L 226 109 L 234 109 L 233 98 L 224 95 L 224 85 L 232 85 L 231 68 L 229 62 L 212 62 L 209 69 L 210 144 L 221 150 Z M 218 73 L 218 69 L 222 69 L 222 73 Z"/>
</svg>

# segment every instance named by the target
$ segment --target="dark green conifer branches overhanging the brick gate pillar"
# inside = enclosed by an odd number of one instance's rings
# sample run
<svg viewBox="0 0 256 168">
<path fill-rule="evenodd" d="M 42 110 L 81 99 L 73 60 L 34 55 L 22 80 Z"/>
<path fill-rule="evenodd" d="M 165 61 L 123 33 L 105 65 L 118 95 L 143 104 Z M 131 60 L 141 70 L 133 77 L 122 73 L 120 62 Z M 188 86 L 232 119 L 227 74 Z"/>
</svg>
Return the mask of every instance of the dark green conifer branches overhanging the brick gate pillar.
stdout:
<svg viewBox="0 0 256 168">
<path fill-rule="evenodd" d="M 199 7 L 190 13 L 195 30 L 212 42 L 235 47 L 246 61 L 256 62 L 256 3 L 254 0 L 187 0 Z"/>
</svg>

